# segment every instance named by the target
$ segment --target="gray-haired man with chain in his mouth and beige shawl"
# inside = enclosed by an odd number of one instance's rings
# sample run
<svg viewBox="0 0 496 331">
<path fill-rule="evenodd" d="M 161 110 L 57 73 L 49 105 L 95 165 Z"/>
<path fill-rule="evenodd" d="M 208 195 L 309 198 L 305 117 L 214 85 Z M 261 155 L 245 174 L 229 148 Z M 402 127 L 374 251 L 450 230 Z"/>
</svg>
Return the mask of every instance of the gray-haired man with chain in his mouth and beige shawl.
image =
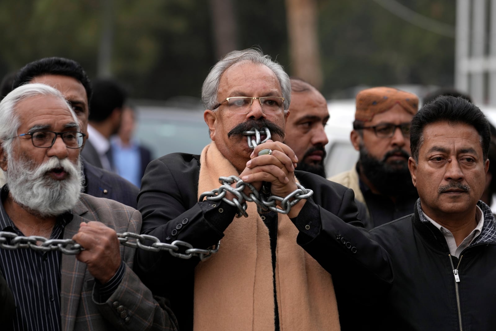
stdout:
<svg viewBox="0 0 496 331">
<path fill-rule="evenodd" d="M 269 56 L 230 52 L 203 83 L 211 143 L 201 155 L 169 154 L 146 169 L 143 233 L 180 245 L 185 256 L 222 239 L 203 261 L 137 254 L 143 282 L 170 299 L 183 331 L 339 330 L 336 296 L 346 294 L 334 292 L 297 236 L 315 230 L 320 216 L 310 206 L 361 222 L 351 190 L 295 171 L 298 158 L 282 142 L 290 98 L 289 77 Z M 218 189 L 224 176 L 232 177 Z"/>
</svg>

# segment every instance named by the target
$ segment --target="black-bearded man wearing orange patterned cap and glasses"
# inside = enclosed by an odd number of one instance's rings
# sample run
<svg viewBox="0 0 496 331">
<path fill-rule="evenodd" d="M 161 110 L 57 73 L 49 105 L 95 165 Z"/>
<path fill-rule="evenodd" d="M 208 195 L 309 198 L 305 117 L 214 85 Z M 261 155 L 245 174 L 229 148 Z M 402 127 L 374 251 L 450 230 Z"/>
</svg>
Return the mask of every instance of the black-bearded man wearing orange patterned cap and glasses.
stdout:
<svg viewBox="0 0 496 331">
<path fill-rule="evenodd" d="M 360 152 L 353 169 L 329 178 L 353 189 L 376 227 L 413 212 L 419 198 L 408 170 L 410 122 L 417 113 L 415 94 L 373 87 L 357 94 L 351 142 Z"/>
</svg>

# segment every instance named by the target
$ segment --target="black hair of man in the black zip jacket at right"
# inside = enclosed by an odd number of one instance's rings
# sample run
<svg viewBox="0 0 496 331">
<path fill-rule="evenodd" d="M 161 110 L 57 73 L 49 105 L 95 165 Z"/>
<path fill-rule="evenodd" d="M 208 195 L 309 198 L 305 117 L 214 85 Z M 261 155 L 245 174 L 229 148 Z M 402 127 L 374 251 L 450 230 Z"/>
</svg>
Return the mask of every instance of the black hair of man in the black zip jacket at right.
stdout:
<svg viewBox="0 0 496 331">
<path fill-rule="evenodd" d="M 424 128 L 440 121 L 465 123 L 474 127 L 480 136 L 484 160 L 488 158 L 491 131 L 484 113 L 465 98 L 439 96 L 422 106 L 412 119 L 410 149 L 416 161 L 419 160 L 419 151 L 424 140 Z"/>
</svg>

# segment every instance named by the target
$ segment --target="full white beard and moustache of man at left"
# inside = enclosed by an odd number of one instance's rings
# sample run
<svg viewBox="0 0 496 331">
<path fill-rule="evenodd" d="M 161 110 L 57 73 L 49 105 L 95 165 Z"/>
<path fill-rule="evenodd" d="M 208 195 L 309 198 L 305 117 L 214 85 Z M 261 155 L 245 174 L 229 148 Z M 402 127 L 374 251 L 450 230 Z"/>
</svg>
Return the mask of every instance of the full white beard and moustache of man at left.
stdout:
<svg viewBox="0 0 496 331">
<path fill-rule="evenodd" d="M 7 156 L 5 179 L 12 199 L 41 217 L 57 216 L 74 207 L 82 189 L 81 160 L 77 166 L 67 158 L 51 157 L 36 167 L 32 160 Z M 55 180 L 48 175 L 54 168 L 62 168 L 68 176 Z"/>
</svg>

